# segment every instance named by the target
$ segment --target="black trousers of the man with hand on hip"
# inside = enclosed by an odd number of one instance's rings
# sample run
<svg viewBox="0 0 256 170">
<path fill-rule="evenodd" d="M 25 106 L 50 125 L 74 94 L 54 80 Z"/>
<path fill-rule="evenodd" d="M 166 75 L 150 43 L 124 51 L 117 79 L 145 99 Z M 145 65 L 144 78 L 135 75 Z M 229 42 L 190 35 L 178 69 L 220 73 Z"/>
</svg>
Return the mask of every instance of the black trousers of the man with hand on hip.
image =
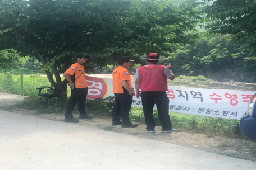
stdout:
<svg viewBox="0 0 256 170">
<path fill-rule="evenodd" d="M 72 111 L 74 110 L 76 103 L 78 112 L 80 115 L 86 115 L 85 102 L 88 93 L 88 87 L 86 88 L 74 88 L 71 90 L 70 100 L 67 103 L 65 118 L 72 118 Z"/>
</svg>

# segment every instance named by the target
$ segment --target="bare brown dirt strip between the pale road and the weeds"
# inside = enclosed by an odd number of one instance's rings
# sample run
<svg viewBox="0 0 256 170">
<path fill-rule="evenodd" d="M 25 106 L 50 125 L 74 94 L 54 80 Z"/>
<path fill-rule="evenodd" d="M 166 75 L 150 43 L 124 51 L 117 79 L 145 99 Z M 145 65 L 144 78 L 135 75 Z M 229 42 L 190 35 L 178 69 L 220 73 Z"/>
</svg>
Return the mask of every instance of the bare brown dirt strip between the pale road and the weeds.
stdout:
<svg viewBox="0 0 256 170">
<path fill-rule="evenodd" d="M 24 97 L 9 93 L 0 93 L 0 110 L 8 110 L 23 115 L 41 117 L 43 119 L 63 122 L 63 114 L 35 114 L 35 111 L 21 110 L 13 105 L 21 101 Z M 74 117 L 78 117 L 74 114 Z M 245 139 L 230 139 L 224 137 L 210 137 L 202 134 L 191 134 L 184 131 L 176 133 L 163 134 L 161 127 L 156 127 L 156 133 L 148 133 L 144 124 L 139 124 L 138 128 L 121 128 L 121 126 L 111 126 L 110 118 L 97 118 L 94 115 L 93 120 L 80 120 L 79 125 L 101 129 L 103 131 L 112 131 L 116 133 L 138 136 L 144 139 L 164 141 L 166 143 L 177 144 L 207 152 L 231 155 L 235 158 L 252 160 L 256 162 L 256 141 Z"/>
</svg>

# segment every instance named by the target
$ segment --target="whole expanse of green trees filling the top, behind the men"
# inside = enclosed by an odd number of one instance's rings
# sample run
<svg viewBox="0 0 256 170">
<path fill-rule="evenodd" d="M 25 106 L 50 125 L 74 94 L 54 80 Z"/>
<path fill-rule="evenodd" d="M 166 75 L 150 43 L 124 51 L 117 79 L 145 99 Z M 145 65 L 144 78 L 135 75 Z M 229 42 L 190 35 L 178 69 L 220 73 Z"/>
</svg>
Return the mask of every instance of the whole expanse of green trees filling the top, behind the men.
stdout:
<svg viewBox="0 0 256 170">
<path fill-rule="evenodd" d="M 204 2 L 0 1 L 0 67 L 42 65 L 49 82 L 65 94 L 60 74 L 76 53 L 93 56 L 88 72 L 111 73 L 119 56 L 134 56 L 137 68 L 154 51 L 176 75 L 255 82 L 255 1 Z M 198 31 L 201 21 L 207 31 Z"/>
</svg>

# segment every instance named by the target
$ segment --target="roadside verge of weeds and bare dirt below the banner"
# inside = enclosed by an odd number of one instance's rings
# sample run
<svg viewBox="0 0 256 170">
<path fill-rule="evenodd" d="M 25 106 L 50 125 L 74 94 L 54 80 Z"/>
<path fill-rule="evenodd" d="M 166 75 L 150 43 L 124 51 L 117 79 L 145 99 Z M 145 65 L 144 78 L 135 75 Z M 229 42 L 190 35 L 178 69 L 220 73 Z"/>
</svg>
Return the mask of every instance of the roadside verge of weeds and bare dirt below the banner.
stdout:
<svg viewBox="0 0 256 170">
<path fill-rule="evenodd" d="M 37 116 L 54 121 L 63 121 L 65 103 L 53 100 L 53 98 L 49 101 L 43 101 L 40 98 L 21 97 L 10 93 L 0 93 L 0 97 L 2 99 L 0 101 L 0 110 Z M 108 98 L 108 100 L 111 100 L 111 98 Z M 34 108 L 32 107 L 33 105 L 38 107 Z M 131 120 L 138 122 L 138 128 L 111 126 L 112 119 L 110 115 L 112 105 L 111 102 L 103 101 L 103 99 L 90 100 L 87 110 L 94 119 L 80 120 L 79 125 L 134 135 L 149 140 L 164 141 L 256 162 L 256 142 L 241 134 L 239 121 L 237 120 L 170 112 L 173 126 L 178 129 L 177 132 L 163 134 L 161 133 L 161 126 L 156 126 L 156 133 L 148 133 L 145 130 L 143 111 L 138 107 L 132 107 L 130 112 Z M 77 110 L 75 110 L 74 117 L 78 117 L 78 115 Z M 156 122 L 159 123 L 158 120 Z"/>
</svg>

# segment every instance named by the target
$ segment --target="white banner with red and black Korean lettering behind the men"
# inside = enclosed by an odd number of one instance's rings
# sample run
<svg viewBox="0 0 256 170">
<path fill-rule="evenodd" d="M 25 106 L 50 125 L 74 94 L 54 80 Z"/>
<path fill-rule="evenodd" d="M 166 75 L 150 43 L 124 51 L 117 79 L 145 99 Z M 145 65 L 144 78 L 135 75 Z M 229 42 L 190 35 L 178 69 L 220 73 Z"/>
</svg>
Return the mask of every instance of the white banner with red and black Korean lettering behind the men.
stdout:
<svg viewBox="0 0 256 170">
<path fill-rule="evenodd" d="M 114 96 L 112 79 L 85 77 L 89 99 Z M 135 85 L 132 83 L 132 87 Z M 256 91 L 204 89 L 168 86 L 169 110 L 184 114 L 237 119 L 245 114 L 248 102 Z M 142 107 L 141 99 L 134 97 L 132 106 Z M 157 108 L 155 106 L 155 108 Z"/>
</svg>

